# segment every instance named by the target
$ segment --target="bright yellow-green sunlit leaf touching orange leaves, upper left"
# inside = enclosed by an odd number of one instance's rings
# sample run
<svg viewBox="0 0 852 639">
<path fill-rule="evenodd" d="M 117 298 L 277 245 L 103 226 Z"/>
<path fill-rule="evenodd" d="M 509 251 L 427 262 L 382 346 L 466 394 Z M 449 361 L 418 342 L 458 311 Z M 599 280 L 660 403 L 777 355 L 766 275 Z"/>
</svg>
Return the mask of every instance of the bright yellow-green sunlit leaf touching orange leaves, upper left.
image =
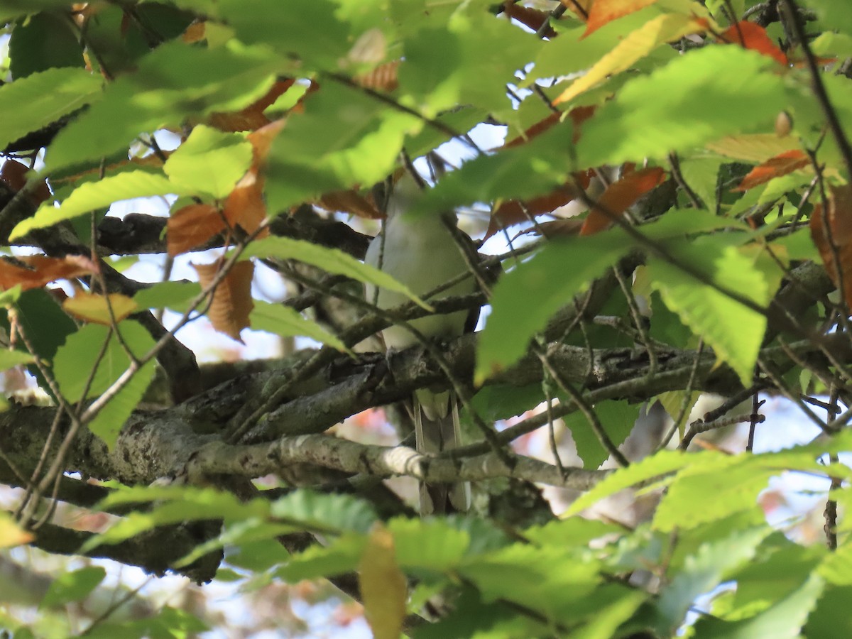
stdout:
<svg viewBox="0 0 852 639">
<path fill-rule="evenodd" d="M 225 198 L 251 164 L 251 144 L 242 135 L 199 124 L 166 160 L 163 170 L 183 193 Z"/>
</svg>

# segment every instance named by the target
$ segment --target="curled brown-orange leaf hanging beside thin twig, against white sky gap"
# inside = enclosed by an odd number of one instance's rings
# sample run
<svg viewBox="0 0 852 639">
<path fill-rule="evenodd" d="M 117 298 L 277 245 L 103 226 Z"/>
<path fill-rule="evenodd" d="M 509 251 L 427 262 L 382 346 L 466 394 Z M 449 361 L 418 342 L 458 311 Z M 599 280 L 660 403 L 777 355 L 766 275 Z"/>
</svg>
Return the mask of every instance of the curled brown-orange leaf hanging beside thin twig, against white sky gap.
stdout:
<svg viewBox="0 0 852 639">
<path fill-rule="evenodd" d="M 195 272 L 199 273 L 202 288 L 207 289 L 210 286 L 221 267 L 220 262 L 193 264 Z M 239 343 L 243 343 L 239 331 L 249 326 L 249 314 L 251 309 L 255 308 L 255 303 L 251 301 L 251 279 L 254 274 L 255 265 L 252 262 L 234 264 L 213 291 L 213 301 L 210 302 L 210 310 L 207 312 L 210 324 L 216 331 Z"/>
</svg>

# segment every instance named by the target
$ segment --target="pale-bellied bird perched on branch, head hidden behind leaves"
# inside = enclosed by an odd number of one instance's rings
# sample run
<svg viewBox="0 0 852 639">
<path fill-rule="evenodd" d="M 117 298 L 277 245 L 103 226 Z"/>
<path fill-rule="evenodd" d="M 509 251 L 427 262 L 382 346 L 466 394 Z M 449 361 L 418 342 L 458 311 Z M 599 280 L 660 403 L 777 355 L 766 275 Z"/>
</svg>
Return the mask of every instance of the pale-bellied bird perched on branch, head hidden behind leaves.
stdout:
<svg viewBox="0 0 852 639">
<path fill-rule="evenodd" d="M 387 201 L 383 230 L 372 239 L 365 262 L 388 273 L 406 285 L 412 293 L 423 296 L 439 285 L 469 271 L 460 247 L 458 218 L 455 211 L 413 213 L 423 188 L 411 172 L 396 181 Z M 476 289 L 475 279 L 463 279 L 431 297 L 431 300 L 466 295 Z M 366 301 L 388 309 L 407 302 L 401 293 L 366 285 Z M 478 309 L 477 309 L 478 311 Z M 474 320 L 475 321 L 475 320 Z M 463 334 L 469 324 L 469 312 L 428 315 L 412 320 L 410 325 L 423 337 L 447 340 Z M 388 350 L 401 350 L 419 343 L 405 326 L 391 325 L 382 331 Z M 435 454 L 460 446 L 458 397 L 454 390 L 417 389 L 412 397 L 412 420 L 418 452 Z M 465 512 L 470 507 L 468 482 L 420 485 L 420 514 L 440 515 Z"/>
</svg>

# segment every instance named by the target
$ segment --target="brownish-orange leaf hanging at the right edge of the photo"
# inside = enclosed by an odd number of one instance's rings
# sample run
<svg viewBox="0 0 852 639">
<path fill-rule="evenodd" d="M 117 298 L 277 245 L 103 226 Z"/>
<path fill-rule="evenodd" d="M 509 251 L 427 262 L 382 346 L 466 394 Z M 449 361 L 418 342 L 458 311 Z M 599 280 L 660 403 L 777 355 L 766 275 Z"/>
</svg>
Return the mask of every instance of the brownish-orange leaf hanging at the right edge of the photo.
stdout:
<svg viewBox="0 0 852 639">
<path fill-rule="evenodd" d="M 826 272 L 839 288 L 832 245 L 837 250 L 837 262 L 843 274 L 843 299 L 852 307 L 852 185 L 829 186 L 829 189 L 828 202 L 817 204 L 810 214 L 810 236 L 820 250 Z M 830 230 L 826 229 L 826 219 Z"/>
</svg>

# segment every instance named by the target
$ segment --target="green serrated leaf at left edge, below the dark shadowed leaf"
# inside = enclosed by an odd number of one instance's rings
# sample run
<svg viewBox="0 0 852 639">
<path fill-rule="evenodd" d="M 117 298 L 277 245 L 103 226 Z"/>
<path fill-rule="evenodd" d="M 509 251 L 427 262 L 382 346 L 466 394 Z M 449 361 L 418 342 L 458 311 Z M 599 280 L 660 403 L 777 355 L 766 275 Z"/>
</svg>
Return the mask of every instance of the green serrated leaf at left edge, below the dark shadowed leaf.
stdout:
<svg viewBox="0 0 852 639">
<path fill-rule="evenodd" d="M 43 129 L 100 96 L 101 78 L 85 69 L 49 69 L 3 84 L 0 148 Z"/>
</svg>

